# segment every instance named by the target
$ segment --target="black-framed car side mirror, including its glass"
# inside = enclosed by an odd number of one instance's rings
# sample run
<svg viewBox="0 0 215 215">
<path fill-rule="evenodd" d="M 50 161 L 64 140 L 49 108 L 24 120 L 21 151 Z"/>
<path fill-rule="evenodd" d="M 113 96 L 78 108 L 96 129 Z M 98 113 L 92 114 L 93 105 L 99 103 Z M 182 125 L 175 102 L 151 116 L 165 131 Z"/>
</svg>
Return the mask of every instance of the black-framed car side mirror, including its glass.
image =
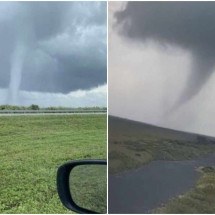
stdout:
<svg viewBox="0 0 215 215">
<path fill-rule="evenodd" d="M 60 166 L 57 191 L 65 207 L 77 213 L 107 213 L 107 161 L 80 160 Z"/>
</svg>

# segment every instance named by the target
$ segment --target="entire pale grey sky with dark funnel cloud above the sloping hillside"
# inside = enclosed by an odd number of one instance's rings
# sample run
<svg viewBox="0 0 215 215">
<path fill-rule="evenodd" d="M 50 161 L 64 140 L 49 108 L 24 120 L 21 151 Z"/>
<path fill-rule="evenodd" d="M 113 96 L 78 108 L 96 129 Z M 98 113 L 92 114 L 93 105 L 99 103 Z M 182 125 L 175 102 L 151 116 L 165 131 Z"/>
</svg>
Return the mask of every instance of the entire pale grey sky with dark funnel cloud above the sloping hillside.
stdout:
<svg viewBox="0 0 215 215">
<path fill-rule="evenodd" d="M 215 3 L 109 5 L 109 114 L 215 136 Z"/>
</svg>

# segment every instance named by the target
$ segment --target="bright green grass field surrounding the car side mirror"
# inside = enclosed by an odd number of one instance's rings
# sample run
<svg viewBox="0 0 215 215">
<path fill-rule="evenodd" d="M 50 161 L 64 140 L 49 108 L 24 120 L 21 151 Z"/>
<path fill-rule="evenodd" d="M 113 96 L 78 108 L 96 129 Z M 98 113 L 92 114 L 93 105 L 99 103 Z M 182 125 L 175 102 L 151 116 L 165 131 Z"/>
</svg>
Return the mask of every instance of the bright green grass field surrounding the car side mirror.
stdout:
<svg viewBox="0 0 215 215">
<path fill-rule="evenodd" d="M 106 115 L 0 117 L 0 213 L 72 213 L 56 191 L 57 168 L 106 159 Z"/>
</svg>

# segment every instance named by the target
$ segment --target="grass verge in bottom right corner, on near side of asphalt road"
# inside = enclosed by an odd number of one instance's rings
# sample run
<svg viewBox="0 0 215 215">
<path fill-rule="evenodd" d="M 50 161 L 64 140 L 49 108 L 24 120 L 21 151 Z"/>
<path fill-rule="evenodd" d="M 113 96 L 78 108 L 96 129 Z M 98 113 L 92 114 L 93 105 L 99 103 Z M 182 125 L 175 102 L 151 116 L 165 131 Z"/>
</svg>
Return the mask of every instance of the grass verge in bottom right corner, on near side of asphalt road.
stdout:
<svg viewBox="0 0 215 215">
<path fill-rule="evenodd" d="M 214 214 L 215 213 L 215 168 L 201 169 L 202 175 L 195 188 L 168 201 L 153 213 L 161 214 Z"/>
</svg>

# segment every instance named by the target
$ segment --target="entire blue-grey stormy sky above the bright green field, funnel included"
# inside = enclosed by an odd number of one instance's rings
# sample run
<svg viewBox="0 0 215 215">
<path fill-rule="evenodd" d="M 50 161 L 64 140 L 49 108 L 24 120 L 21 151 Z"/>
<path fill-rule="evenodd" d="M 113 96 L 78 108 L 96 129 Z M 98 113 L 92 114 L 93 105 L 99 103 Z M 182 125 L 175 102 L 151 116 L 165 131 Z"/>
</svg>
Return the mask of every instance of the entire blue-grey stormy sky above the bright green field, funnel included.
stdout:
<svg viewBox="0 0 215 215">
<path fill-rule="evenodd" d="M 0 104 L 106 106 L 106 34 L 106 2 L 0 2 Z"/>
</svg>

